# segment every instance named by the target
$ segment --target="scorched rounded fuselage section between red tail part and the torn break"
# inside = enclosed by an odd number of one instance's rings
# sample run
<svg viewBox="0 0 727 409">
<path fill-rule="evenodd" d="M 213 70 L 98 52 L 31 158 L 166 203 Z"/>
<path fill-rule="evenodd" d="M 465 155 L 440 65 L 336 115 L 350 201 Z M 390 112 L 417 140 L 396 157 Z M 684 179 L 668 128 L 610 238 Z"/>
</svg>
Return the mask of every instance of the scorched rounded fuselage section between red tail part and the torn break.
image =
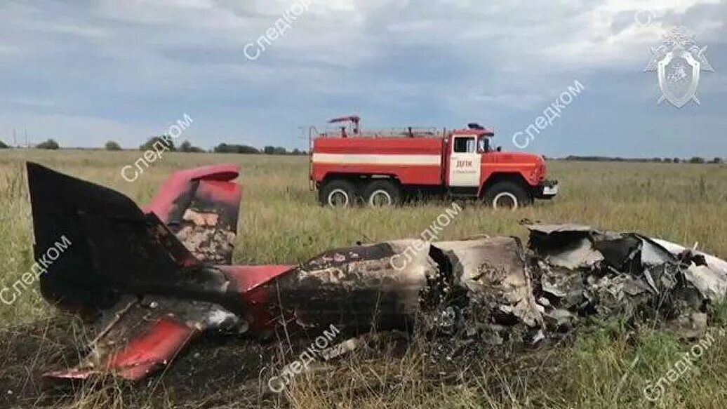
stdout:
<svg viewBox="0 0 727 409">
<path fill-rule="evenodd" d="M 427 246 L 412 251 L 418 243 L 401 240 L 328 251 L 258 291 L 272 297 L 270 316 L 292 327 L 334 324 L 356 334 L 409 329 L 419 312 L 427 275 L 436 272 Z M 411 259 L 406 261 L 405 254 Z"/>
</svg>

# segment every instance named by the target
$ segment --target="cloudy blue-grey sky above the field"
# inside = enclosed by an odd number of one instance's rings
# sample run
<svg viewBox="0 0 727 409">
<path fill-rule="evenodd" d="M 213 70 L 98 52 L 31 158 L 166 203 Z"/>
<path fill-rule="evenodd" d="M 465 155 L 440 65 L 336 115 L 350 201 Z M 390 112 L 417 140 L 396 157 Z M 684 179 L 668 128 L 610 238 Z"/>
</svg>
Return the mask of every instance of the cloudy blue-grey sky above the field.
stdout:
<svg viewBox="0 0 727 409">
<path fill-rule="evenodd" d="M 298 0 L 300 1 L 300 0 Z M 0 139 L 136 147 L 188 114 L 180 139 L 307 148 L 302 127 L 494 127 L 516 150 L 574 81 L 585 90 L 526 150 L 727 156 L 722 0 L 1 0 Z M 715 72 L 678 109 L 656 105 L 652 46 L 681 25 Z M 252 54 L 249 49 L 249 54 Z"/>
</svg>

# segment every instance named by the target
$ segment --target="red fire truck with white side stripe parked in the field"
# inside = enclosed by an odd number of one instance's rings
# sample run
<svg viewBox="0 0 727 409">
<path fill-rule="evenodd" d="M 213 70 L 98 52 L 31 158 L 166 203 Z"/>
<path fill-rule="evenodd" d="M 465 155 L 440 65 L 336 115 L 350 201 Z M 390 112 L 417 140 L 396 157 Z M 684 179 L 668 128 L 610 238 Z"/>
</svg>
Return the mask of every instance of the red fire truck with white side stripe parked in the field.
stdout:
<svg viewBox="0 0 727 409">
<path fill-rule="evenodd" d="M 558 182 L 547 180 L 545 160 L 494 147 L 494 131 L 467 129 L 361 129 L 361 118 L 329 121 L 337 128 L 310 129 L 310 182 L 324 206 L 395 206 L 411 195 L 473 198 L 494 208 L 551 199 Z"/>
</svg>

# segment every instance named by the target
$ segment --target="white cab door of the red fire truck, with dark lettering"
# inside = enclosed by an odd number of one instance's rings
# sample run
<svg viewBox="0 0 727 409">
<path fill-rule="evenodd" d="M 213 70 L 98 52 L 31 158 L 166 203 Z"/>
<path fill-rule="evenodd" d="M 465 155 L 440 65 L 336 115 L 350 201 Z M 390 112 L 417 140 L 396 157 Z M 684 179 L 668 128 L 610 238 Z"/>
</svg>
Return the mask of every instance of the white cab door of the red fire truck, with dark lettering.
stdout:
<svg viewBox="0 0 727 409">
<path fill-rule="evenodd" d="M 449 155 L 449 186 L 480 186 L 481 155 L 477 152 L 477 138 L 469 135 L 453 136 Z"/>
</svg>

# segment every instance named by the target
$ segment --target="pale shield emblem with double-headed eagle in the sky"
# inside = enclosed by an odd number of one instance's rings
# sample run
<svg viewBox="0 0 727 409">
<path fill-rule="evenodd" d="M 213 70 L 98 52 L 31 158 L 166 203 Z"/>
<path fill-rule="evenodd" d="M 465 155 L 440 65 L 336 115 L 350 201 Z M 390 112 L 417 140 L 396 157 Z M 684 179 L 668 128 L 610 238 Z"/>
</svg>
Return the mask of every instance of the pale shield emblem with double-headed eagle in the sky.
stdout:
<svg viewBox="0 0 727 409">
<path fill-rule="evenodd" d="M 694 36 L 683 27 L 672 28 L 664 36 L 662 45 L 651 49 L 651 60 L 644 71 L 656 71 L 658 74 L 662 97 L 656 103 L 667 100 L 676 108 L 682 108 L 694 100 L 699 105 L 696 98 L 699 74 L 702 71 L 714 72 L 707 62 L 706 52 L 707 46 L 699 48 Z"/>
</svg>

